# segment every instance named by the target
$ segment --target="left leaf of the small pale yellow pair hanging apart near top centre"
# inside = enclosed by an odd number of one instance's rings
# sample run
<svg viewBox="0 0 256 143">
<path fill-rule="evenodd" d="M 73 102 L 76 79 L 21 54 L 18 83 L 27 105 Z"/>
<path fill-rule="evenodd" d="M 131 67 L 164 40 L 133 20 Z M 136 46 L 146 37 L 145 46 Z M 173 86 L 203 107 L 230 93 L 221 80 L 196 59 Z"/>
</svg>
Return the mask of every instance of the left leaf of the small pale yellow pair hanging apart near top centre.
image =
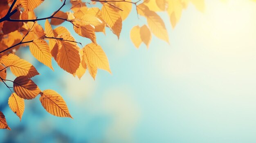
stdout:
<svg viewBox="0 0 256 143">
<path fill-rule="evenodd" d="M 135 45 L 135 47 L 139 48 L 140 44 L 142 43 L 139 26 L 134 26 L 131 29 L 130 38 L 132 40 L 132 43 Z"/>
</svg>

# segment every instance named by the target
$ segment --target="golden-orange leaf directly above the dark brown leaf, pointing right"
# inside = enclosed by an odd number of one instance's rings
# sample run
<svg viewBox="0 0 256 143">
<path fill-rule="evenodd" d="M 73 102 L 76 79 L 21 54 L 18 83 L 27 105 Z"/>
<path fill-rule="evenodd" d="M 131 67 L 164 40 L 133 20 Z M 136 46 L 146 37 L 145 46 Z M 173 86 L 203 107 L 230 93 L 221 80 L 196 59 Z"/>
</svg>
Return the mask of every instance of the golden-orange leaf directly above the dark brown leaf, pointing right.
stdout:
<svg viewBox="0 0 256 143">
<path fill-rule="evenodd" d="M 24 59 L 18 59 L 8 66 L 16 77 L 26 76 L 27 78 L 31 78 L 39 75 L 36 68 Z"/>
</svg>

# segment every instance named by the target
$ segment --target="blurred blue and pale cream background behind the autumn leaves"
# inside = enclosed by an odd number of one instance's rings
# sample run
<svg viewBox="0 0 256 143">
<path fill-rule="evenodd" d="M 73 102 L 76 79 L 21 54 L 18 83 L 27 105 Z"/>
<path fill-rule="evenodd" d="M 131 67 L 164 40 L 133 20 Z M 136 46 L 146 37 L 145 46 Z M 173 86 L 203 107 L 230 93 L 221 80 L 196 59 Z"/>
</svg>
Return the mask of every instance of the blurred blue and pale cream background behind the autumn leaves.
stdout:
<svg viewBox="0 0 256 143">
<path fill-rule="evenodd" d="M 61 4 L 45 0 L 36 15 L 49 16 Z M 0 142 L 255 143 L 255 13 L 252 0 L 205 0 L 204 12 L 189 4 L 175 29 L 168 15 L 159 13 L 170 45 L 153 36 L 149 49 L 136 49 L 130 29 L 145 20 L 133 7 L 119 40 L 109 29 L 97 33 L 112 75 L 99 70 L 95 81 L 88 72 L 74 78 L 55 61 L 53 72 L 28 48 L 20 49 L 18 55 L 41 74 L 33 78 L 36 84 L 62 95 L 74 119 L 47 113 L 38 96 L 25 101 L 20 122 L 8 107 L 8 89 L 0 84 L 0 110 L 12 129 L 0 130 Z M 90 43 L 70 23 L 61 25 L 76 41 Z M 14 79 L 8 73 L 7 79 Z"/>
</svg>

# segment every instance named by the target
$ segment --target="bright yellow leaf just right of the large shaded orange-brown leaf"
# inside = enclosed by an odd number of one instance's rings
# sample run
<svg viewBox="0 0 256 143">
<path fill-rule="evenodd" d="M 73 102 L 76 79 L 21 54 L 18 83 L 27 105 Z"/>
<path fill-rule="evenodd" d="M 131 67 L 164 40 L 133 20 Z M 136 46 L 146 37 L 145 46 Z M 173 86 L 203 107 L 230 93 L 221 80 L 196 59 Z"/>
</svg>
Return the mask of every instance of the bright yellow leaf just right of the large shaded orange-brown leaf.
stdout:
<svg viewBox="0 0 256 143">
<path fill-rule="evenodd" d="M 102 50 L 101 46 L 91 43 L 86 45 L 83 48 L 83 51 L 90 64 L 111 73 L 109 63 L 108 63 L 108 57 L 106 56 L 105 52 Z"/>
</svg>

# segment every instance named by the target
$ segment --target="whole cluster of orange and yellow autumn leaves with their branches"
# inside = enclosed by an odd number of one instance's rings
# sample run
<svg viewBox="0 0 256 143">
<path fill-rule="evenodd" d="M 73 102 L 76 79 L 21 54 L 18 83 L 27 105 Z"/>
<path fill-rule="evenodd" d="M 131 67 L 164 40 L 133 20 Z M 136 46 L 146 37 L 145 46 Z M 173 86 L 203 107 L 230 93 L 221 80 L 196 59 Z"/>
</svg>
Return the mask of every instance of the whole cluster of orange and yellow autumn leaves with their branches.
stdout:
<svg viewBox="0 0 256 143">
<path fill-rule="evenodd" d="M 36 68 L 24 59 L 15 55 L 21 47 L 29 46 L 31 54 L 41 63 L 54 70 L 52 59 L 68 73 L 81 78 L 88 70 L 95 79 L 97 70 L 103 69 L 111 73 L 108 58 L 97 44 L 96 32 L 105 33 L 109 28 L 119 38 L 122 22 L 128 17 L 132 6 L 136 7 L 138 16 L 145 17 L 147 24 L 131 29 L 131 40 L 138 48 L 142 42 L 149 46 L 151 33 L 169 43 L 166 26 L 156 13 L 167 11 L 173 27 L 180 19 L 181 11 L 191 1 L 203 0 L 70 0 L 69 11 L 61 11 L 66 0 L 52 15 L 37 18 L 34 9 L 44 0 L 1 0 L 0 1 L 0 79 L 11 91 L 9 107 L 22 118 L 25 110 L 24 99 L 34 99 L 41 95 L 40 102 L 47 112 L 58 117 L 70 117 L 67 105 L 61 95 L 54 90 L 41 91 L 31 80 L 39 75 Z M 61 0 L 62 1 L 62 0 Z M 92 6 L 95 3 L 100 7 Z M 45 20 L 41 26 L 37 21 Z M 49 22 L 50 21 L 50 22 Z M 52 29 L 52 25 L 70 22 L 73 30 L 80 36 L 89 38 L 91 43 L 80 48 L 70 31 L 63 26 Z M 7 68 L 16 76 L 9 80 Z M 9 87 L 6 81 L 13 83 Z M 11 89 L 13 88 L 13 89 Z M 0 111 L 0 128 L 10 129 L 4 114 Z"/>
</svg>

